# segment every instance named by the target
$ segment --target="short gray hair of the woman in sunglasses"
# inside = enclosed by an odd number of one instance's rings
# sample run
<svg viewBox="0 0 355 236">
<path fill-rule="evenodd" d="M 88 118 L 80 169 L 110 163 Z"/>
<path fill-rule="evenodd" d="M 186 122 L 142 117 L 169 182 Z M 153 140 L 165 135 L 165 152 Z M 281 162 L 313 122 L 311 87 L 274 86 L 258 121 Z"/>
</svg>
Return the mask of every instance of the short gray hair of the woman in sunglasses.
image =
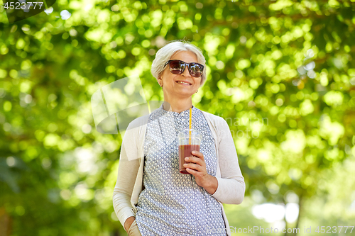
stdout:
<svg viewBox="0 0 355 236">
<path fill-rule="evenodd" d="M 174 40 L 165 45 L 164 47 L 160 48 L 158 52 L 155 54 L 155 59 L 152 63 L 151 73 L 155 79 L 159 79 L 160 74 L 164 71 L 164 64 L 170 60 L 170 57 L 174 55 L 175 52 L 180 51 L 190 51 L 194 52 L 197 56 L 197 62 L 204 66 L 204 71 L 201 76 L 201 84 L 200 87 L 206 81 L 206 60 L 204 59 L 204 55 L 202 54 L 202 50 L 196 47 L 195 45 L 188 43 L 184 40 Z"/>
</svg>

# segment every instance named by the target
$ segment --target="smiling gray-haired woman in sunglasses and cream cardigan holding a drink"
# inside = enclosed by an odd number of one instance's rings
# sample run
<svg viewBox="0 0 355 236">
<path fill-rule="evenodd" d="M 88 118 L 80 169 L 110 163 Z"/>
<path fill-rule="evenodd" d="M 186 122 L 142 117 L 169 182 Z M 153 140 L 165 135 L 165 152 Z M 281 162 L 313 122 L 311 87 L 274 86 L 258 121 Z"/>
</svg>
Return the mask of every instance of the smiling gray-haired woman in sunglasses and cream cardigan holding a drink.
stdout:
<svg viewBox="0 0 355 236">
<path fill-rule="evenodd" d="M 226 121 L 192 106 L 206 81 L 205 59 L 195 45 L 173 41 L 155 55 L 151 72 L 164 102 L 133 120 L 123 138 L 114 210 L 131 235 L 230 235 L 222 203 L 240 204 L 244 177 Z M 178 163 L 178 133 L 202 135 L 200 152 Z"/>
</svg>

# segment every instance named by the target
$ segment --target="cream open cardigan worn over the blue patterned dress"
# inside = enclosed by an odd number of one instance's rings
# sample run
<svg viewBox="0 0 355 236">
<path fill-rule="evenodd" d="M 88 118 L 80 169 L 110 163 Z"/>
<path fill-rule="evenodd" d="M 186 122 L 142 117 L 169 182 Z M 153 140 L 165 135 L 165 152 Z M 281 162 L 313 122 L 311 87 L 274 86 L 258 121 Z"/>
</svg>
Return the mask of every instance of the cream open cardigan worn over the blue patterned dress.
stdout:
<svg viewBox="0 0 355 236">
<path fill-rule="evenodd" d="M 226 232 L 231 235 L 222 203 L 240 204 L 244 199 L 245 183 L 238 163 L 234 140 L 226 120 L 202 111 L 214 138 L 217 151 L 217 190 L 212 194 L 222 208 Z M 119 172 L 114 187 L 114 211 L 122 225 L 136 215 L 139 193 L 143 190 L 144 151 L 149 115 L 136 118 L 124 134 L 119 159 Z"/>
</svg>

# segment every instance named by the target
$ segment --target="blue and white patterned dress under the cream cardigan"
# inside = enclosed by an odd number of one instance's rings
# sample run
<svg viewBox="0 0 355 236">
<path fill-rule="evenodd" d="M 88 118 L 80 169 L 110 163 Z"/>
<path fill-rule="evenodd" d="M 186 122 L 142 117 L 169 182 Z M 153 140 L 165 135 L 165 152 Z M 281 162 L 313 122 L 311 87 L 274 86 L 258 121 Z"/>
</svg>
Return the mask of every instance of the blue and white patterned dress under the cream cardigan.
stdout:
<svg viewBox="0 0 355 236">
<path fill-rule="evenodd" d="M 198 186 L 195 176 L 181 174 L 178 133 L 189 128 L 190 109 L 151 113 L 144 142 L 143 186 L 138 197 L 136 223 L 141 235 L 226 235 L 222 208 Z M 192 108 L 192 128 L 202 135 L 200 152 L 207 173 L 215 176 L 217 156 L 214 140 L 202 112 Z"/>
</svg>

